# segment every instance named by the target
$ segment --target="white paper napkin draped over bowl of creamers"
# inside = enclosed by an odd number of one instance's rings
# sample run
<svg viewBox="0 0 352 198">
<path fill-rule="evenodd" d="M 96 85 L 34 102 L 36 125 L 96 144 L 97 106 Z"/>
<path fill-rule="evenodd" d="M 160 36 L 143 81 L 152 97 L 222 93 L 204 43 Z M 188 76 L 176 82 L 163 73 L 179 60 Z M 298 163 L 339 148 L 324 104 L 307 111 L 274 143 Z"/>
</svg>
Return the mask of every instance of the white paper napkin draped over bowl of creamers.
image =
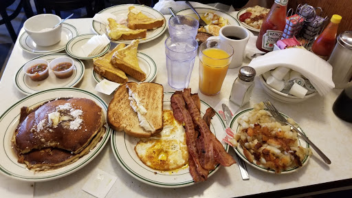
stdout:
<svg viewBox="0 0 352 198">
<path fill-rule="evenodd" d="M 315 54 L 299 48 L 269 52 L 254 58 L 249 66 L 256 69 L 258 76 L 278 66 L 288 67 L 308 78 L 320 96 L 335 87 L 332 80 L 333 67 Z"/>
</svg>

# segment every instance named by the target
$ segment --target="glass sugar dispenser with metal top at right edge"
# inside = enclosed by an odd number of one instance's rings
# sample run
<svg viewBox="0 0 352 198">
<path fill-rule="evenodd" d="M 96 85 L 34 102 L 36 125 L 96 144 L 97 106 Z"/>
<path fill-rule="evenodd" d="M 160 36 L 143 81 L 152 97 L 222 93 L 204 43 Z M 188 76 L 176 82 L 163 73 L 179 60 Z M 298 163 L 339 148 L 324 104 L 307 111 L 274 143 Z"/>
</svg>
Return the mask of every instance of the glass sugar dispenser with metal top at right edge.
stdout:
<svg viewBox="0 0 352 198">
<path fill-rule="evenodd" d="M 352 77 L 352 31 L 338 35 L 338 43 L 328 60 L 333 66 L 333 83 L 336 88 L 344 88 Z"/>
</svg>

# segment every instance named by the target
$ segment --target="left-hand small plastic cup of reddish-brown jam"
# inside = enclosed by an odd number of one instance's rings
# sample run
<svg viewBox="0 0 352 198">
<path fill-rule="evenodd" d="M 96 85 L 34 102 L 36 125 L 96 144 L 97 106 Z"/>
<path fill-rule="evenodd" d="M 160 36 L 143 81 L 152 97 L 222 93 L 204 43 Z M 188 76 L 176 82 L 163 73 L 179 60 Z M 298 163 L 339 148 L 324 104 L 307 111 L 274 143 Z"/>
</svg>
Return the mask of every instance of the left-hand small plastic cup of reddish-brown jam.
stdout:
<svg viewBox="0 0 352 198">
<path fill-rule="evenodd" d="M 45 80 L 49 76 L 49 63 L 44 59 L 36 59 L 25 63 L 23 72 L 33 81 Z"/>
</svg>

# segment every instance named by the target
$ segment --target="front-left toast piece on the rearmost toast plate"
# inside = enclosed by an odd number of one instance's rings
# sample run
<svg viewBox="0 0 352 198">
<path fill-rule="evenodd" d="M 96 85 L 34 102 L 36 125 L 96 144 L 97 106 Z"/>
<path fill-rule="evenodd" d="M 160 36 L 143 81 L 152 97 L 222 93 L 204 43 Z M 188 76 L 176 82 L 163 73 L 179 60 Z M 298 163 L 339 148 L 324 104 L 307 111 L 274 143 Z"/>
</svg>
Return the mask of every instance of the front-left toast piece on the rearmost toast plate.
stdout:
<svg viewBox="0 0 352 198">
<path fill-rule="evenodd" d="M 113 41 L 142 39 L 146 37 L 146 30 L 131 30 L 126 25 L 117 23 L 114 19 L 107 19 L 107 34 Z"/>
</svg>

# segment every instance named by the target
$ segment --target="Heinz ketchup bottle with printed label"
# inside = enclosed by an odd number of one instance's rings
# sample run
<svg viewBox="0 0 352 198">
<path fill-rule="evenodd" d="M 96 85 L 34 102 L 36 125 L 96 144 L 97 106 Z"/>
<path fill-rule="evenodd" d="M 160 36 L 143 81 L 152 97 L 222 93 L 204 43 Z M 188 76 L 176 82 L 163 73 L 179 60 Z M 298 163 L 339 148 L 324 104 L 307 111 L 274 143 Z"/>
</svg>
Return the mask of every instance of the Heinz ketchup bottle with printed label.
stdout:
<svg viewBox="0 0 352 198">
<path fill-rule="evenodd" d="M 286 12 L 288 0 L 275 0 L 267 17 L 263 20 L 261 25 L 261 32 L 259 32 L 256 40 L 256 48 L 263 52 L 270 52 L 274 49 L 276 41 L 283 36 L 283 30 L 286 25 Z"/>
</svg>

